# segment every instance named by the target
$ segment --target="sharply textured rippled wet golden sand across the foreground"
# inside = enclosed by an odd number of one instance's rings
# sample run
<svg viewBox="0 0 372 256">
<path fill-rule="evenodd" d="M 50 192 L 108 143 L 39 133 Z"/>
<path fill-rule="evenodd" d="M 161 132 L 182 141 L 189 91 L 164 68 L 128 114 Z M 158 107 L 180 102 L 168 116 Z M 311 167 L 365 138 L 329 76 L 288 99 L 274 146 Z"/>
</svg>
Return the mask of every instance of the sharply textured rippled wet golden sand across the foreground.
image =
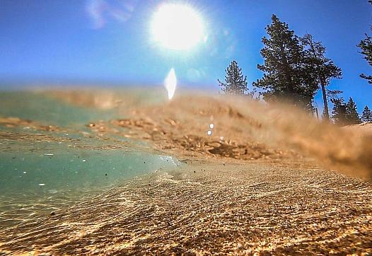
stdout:
<svg viewBox="0 0 372 256">
<path fill-rule="evenodd" d="M 180 169 L 124 182 L 82 204 L 1 231 L 0 252 L 372 252 L 369 182 L 320 170 L 312 162 L 187 161 Z"/>
</svg>

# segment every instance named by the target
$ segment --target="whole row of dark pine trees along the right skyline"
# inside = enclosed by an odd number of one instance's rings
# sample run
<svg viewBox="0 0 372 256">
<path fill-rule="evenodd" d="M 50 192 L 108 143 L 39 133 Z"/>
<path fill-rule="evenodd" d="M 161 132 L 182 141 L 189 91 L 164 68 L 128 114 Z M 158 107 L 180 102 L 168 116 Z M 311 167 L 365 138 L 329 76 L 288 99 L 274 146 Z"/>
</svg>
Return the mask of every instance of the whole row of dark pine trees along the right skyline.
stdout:
<svg viewBox="0 0 372 256">
<path fill-rule="evenodd" d="M 372 0 L 369 2 L 372 4 Z M 314 112 L 314 97 L 320 91 L 324 104 L 322 120 L 328 121 L 332 117 L 335 124 L 342 126 L 372 122 L 372 112 L 368 106 L 364 107 L 360 117 L 352 98 L 345 103 L 344 98 L 339 97 L 342 91 L 329 88 L 332 79 L 342 78 L 342 69 L 326 57 L 322 42 L 314 40 L 310 34 L 299 37 L 275 15 L 266 31 L 261 50 L 264 63 L 257 64 L 257 69 L 263 72 L 262 78 L 253 82 L 253 89 L 248 92 L 247 77 L 243 76 L 234 60 L 226 69 L 224 81 L 218 80 L 223 93 L 254 97 L 258 89 L 257 98 L 262 97 L 267 103 L 281 101 Z M 372 65 L 372 38 L 366 34 L 358 46 L 364 59 Z M 372 83 L 372 76 L 361 74 L 361 77 Z M 332 115 L 328 108 L 329 101 L 334 105 Z"/>
</svg>

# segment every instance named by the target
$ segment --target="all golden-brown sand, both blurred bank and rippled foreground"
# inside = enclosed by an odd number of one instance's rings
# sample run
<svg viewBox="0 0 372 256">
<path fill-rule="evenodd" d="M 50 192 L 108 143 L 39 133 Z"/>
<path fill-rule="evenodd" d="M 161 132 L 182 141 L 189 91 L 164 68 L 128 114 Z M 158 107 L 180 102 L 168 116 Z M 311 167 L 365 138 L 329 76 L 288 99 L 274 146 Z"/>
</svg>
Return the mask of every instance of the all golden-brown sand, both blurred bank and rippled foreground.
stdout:
<svg viewBox="0 0 372 256">
<path fill-rule="evenodd" d="M 113 138 L 142 140 L 150 146 L 139 149 L 183 164 L 1 230 L 0 254 L 372 253 L 368 134 L 245 99 L 189 95 L 147 104 L 103 93 L 58 95 L 71 104 L 105 103 L 122 111 L 123 118 L 91 120 L 89 132 L 81 132 L 110 142 L 100 150 L 133 146 Z M 59 141 L 48 132 L 69 132 L 14 117 L 0 125 L 27 125 L 44 131 L 47 141 Z M 0 139 L 37 136 L 1 132 Z"/>
</svg>

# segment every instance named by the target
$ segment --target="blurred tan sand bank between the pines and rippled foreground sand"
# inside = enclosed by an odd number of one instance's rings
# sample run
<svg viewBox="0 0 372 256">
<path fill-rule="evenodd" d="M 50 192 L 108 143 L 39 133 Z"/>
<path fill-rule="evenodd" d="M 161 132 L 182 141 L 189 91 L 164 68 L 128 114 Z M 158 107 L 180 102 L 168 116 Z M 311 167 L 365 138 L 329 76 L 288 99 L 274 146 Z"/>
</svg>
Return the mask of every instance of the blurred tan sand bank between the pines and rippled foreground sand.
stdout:
<svg viewBox="0 0 372 256">
<path fill-rule="evenodd" d="M 76 93 L 68 92 L 64 98 L 71 98 L 69 95 L 76 97 Z M 119 101 L 113 100 L 112 95 L 107 97 L 109 101 Z M 342 129 L 320 123 L 293 107 L 266 105 L 246 97 L 187 92 L 169 103 L 151 103 L 149 98 L 141 98 L 141 93 L 138 98 L 130 94 L 118 98 L 121 101 L 115 107 L 126 118 L 93 121 L 88 124 L 93 132 L 144 139 L 151 141 L 155 149 L 178 156 L 240 160 L 303 156 L 316 159 L 325 168 L 371 178 L 372 126 L 369 124 L 364 129 L 360 129 L 362 126 Z M 106 102 L 97 99 L 89 102 L 100 101 Z M 214 125 L 213 129 L 209 128 L 210 124 Z M 119 132 L 120 127 L 126 130 Z M 209 130 L 211 136 L 207 134 Z"/>
</svg>

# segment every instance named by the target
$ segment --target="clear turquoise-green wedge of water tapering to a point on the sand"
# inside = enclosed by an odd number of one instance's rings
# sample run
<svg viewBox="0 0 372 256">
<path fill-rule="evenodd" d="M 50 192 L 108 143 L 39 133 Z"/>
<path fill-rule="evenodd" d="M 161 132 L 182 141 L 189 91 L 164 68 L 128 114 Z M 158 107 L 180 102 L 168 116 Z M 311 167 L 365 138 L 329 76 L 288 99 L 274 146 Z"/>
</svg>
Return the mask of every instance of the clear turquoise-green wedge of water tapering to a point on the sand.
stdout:
<svg viewBox="0 0 372 256">
<path fill-rule="evenodd" d="M 96 189 L 177 165 L 171 157 L 141 151 L 87 150 L 48 144 L 36 151 L 0 153 L 0 193 L 54 194 Z"/>
</svg>

